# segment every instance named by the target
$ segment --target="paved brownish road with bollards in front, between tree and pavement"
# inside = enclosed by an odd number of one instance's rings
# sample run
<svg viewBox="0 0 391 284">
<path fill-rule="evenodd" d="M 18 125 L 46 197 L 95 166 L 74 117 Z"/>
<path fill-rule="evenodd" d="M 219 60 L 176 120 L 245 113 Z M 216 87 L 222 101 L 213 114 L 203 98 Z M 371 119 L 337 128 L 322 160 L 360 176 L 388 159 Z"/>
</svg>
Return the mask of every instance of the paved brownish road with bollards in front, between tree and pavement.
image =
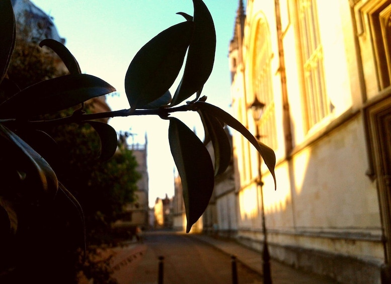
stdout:
<svg viewBox="0 0 391 284">
<path fill-rule="evenodd" d="M 157 283 L 161 255 L 165 257 L 164 284 L 232 283 L 230 257 L 189 235 L 147 234 L 143 245 L 134 249 L 138 250 L 134 261 L 128 265 L 124 261 L 118 270 L 120 284 Z M 240 263 L 237 267 L 240 284 L 262 283 L 260 275 Z"/>
</svg>

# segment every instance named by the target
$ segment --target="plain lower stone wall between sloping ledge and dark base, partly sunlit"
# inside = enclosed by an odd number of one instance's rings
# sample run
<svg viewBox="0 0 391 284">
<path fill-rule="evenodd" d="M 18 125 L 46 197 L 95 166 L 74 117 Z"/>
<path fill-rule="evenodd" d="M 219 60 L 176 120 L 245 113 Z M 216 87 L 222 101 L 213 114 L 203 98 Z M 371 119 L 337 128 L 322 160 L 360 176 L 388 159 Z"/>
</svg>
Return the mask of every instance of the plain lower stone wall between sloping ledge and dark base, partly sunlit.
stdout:
<svg viewBox="0 0 391 284">
<path fill-rule="evenodd" d="M 359 118 L 300 150 L 276 167 L 277 190 L 263 164 L 263 194 L 270 228 L 380 229 L 375 185 L 365 175 L 368 162 Z M 241 221 L 259 219 L 260 190 L 243 191 Z"/>
</svg>

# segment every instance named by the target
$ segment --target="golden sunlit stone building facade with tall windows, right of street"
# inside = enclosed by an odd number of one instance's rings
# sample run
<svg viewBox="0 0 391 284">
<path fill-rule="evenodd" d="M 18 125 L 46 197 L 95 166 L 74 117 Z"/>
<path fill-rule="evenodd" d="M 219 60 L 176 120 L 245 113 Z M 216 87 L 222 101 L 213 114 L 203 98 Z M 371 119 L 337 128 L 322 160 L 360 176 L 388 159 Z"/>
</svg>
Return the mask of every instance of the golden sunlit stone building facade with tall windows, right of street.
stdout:
<svg viewBox="0 0 391 284">
<path fill-rule="evenodd" d="M 262 250 L 264 204 L 272 258 L 341 283 L 391 282 L 390 19 L 389 0 L 239 1 L 233 116 L 277 159 L 275 191 L 233 133 L 240 242 Z"/>
</svg>

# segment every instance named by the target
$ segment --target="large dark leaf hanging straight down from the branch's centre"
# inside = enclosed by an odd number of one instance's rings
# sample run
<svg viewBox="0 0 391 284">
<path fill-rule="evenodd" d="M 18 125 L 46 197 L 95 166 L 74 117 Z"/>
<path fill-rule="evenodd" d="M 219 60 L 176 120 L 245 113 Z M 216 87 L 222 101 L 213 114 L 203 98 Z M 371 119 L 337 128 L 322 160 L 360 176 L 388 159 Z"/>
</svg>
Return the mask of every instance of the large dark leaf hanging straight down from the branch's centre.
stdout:
<svg viewBox="0 0 391 284">
<path fill-rule="evenodd" d="M 182 180 L 188 233 L 208 206 L 214 186 L 213 165 L 201 140 L 176 118 L 170 118 L 169 141 Z"/>
</svg>

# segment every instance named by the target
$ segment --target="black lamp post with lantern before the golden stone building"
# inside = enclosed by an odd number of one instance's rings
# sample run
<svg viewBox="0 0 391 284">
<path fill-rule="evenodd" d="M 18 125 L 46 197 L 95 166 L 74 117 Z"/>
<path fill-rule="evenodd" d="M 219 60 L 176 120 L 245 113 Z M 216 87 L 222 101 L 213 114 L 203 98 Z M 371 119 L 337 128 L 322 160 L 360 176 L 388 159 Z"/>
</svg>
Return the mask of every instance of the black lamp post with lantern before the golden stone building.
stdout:
<svg viewBox="0 0 391 284">
<path fill-rule="evenodd" d="M 260 140 L 261 135 L 259 133 L 258 123 L 259 120 L 262 117 L 263 109 L 265 107 L 265 104 L 260 102 L 255 96 L 254 102 L 251 104 L 250 109 L 253 113 L 253 118 L 255 122 L 255 129 L 256 129 L 256 135 L 255 138 L 257 140 Z M 264 209 L 264 202 L 263 202 L 263 181 L 262 181 L 262 172 L 261 172 L 261 155 L 258 154 L 258 177 L 257 177 L 257 187 L 261 188 L 261 202 L 262 202 L 262 210 L 261 210 L 261 216 L 262 216 L 262 231 L 263 231 L 263 252 L 262 252 L 262 265 L 263 265 L 263 282 L 264 284 L 271 284 L 272 283 L 272 277 L 270 273 L 270 254 L 269 254 L 269 246 L 267 243 L 267 231 L 266 231 L 266 224 L 265 224 L 265 209 Z"/>
</svg>

